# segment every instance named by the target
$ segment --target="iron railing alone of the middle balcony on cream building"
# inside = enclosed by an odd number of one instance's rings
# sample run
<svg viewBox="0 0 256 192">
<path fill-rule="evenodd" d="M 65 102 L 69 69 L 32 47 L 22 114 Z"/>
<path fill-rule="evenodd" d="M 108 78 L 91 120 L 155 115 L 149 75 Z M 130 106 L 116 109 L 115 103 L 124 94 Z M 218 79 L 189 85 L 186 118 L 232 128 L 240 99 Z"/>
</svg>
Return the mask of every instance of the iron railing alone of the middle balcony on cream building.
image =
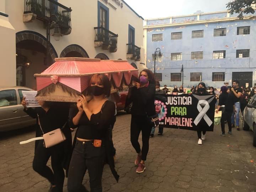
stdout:
<svg viewBox="0 0 256 192">
<path fill-rule="evenodd" d="M 104 27 L 94 27 L 95 31 L 95 42 L 103 42 L 105 45 L 110 45 L 111 47 L 117 46 L 118 34 L 107 30 Z"/>
</svg>

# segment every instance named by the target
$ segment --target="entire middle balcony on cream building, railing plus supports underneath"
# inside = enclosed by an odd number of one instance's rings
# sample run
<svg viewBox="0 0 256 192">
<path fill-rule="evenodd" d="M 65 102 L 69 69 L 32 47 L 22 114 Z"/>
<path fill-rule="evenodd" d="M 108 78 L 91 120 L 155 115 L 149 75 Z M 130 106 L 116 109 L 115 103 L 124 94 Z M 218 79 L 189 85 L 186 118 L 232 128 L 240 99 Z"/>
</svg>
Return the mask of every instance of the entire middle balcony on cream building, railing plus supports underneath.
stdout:
<svg viewBox="0 0 256 192">
<path fill-rule="evenodd" d="M 94 47 L 101 47 L 104 50 L 110 50 L 111 53 L 117 51 L 117 38 L 118 34 L 115 34 L 104 27 L 94 27 L 95 38 Z"/>
</svg>

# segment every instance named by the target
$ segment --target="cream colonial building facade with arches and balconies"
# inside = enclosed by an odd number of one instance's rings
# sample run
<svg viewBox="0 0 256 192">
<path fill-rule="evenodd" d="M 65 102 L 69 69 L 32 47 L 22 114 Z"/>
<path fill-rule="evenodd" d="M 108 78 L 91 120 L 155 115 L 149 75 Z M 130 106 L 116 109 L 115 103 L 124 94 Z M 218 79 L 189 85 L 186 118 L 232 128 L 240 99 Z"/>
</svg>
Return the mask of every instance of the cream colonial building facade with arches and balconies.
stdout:
<svg viewBox="0 0 256 192">
<path fill-rule="evenodd" d="M 57 57 L 123 59 L 145 68 L 143 18 L 123 0 L 1 0 L 0 85 L 36 89 Z"/>
</svg>

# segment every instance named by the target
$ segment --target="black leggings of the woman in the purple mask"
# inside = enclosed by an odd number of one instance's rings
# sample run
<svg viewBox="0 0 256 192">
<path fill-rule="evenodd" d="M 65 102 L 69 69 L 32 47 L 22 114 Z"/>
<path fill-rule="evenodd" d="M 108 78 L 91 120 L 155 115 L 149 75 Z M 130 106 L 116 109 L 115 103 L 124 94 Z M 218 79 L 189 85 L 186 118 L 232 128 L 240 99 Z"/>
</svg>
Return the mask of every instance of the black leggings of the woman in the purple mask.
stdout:
<svg viewBox="0 0 256 192">
<path fill-rule="evenodd" d="M 142 152 L 142 160 L 146 160 L 149 151 L 149 137 L 151 133 L 152 122 L 146 116 L 132 115 L 130 126 L 130 141 L 137 153 Z M 138 142 L 139 134 L 142 132 L 142 149 Z"/>
</svg>

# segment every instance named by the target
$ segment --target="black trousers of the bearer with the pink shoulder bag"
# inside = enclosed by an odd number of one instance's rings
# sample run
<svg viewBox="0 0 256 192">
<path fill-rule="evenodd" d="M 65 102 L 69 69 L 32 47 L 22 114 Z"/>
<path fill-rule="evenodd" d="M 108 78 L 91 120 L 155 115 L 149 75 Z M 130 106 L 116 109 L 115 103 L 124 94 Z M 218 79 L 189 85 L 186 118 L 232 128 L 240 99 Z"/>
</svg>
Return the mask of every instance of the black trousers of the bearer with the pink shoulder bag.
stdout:
<svg viewBox="0 0 256 192">
<path fill-rule="evenodd" d="M 48 167 L 47 161 L 51 157 L 52 170 Z M 52 185 L 56 185 L 56 191 L 63 191 L 64 170 L 62 167 L 64 160 L 64 142 L 50 148 L 43 146 L 43 140 L 37 144 L 34 154 L 33 170 L 48 179 Z"/>
</svg>

